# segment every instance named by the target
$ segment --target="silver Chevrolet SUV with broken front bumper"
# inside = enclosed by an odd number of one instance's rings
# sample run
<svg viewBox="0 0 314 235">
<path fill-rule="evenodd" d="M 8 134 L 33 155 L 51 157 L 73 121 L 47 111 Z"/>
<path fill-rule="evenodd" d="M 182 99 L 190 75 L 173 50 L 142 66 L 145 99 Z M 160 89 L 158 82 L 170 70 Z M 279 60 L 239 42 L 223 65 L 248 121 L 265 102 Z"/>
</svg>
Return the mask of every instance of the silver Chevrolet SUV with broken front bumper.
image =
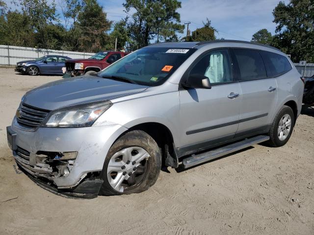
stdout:
<svg viewBox="0 0 314 235">
<path fill-rule="evenodd" d="M 20 167 L 69 197 L 144 191 L 162 166 L 188 168 L 287 143 L 304 84 L 286 54 L 240 41 L 163 43 L 96 76 L 27 92 L 7 127 Z"/>
</svg>

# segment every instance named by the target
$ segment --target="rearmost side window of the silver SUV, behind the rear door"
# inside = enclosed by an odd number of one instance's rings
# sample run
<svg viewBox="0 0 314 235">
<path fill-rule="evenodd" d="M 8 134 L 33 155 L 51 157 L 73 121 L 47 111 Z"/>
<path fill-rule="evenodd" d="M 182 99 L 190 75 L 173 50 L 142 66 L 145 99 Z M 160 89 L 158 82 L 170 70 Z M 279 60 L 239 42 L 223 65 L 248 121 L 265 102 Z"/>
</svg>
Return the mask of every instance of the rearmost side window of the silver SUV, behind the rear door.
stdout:
<svg viewBox="0 0 314 235">
<path fill-rule="evenodd" d="M 291 64 L 285 56 L 268 51 L 261 51 L 261 55 L 266 65 L 268 77 L 279 76 L 292 69 Z"/>
</svg>

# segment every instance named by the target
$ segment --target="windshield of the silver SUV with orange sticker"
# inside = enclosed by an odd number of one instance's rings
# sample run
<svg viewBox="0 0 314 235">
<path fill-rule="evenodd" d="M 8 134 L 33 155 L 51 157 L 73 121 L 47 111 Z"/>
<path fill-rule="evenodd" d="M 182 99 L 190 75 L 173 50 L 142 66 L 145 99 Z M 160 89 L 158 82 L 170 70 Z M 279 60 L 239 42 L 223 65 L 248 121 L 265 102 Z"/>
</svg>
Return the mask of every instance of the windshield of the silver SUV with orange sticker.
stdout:
<svg viewBox="0 0 314 235">
<path fill-rule="evenodd" d="M 133 83 L 158 86 L 195 51 L 192 48 L 146 47 L 134 51 L 98 73 L 100 77 L 124 77 Z"/>
</svg>

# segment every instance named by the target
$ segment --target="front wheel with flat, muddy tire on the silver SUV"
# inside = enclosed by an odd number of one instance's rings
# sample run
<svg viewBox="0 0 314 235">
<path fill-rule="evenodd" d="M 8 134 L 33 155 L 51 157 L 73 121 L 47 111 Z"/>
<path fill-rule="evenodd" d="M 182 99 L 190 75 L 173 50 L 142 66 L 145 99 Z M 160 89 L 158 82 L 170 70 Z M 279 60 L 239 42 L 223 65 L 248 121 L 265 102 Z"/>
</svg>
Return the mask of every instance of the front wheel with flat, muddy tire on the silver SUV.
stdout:
<svg viewBox="0 0 314 235">
<path fill-rule="evenodd" d="M 131 161 L 128 163 L 127 160 Z M 155 184 L 160 169 L 161 152 L 156 141 L 144 131 L 130 131 L 108 151 L 101 172 L 104 183 L 99 194 L 110 196 L 145 191 Z M 120 186 L 117 182 L 121 182 Z"/>
</svg>

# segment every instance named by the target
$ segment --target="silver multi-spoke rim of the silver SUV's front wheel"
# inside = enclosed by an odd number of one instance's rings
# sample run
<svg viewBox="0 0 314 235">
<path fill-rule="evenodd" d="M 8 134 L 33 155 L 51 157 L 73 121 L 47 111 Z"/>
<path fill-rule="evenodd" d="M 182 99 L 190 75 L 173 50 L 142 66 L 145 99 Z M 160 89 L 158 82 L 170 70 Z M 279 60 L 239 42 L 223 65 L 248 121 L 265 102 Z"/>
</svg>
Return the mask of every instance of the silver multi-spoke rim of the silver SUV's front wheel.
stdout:
<svg viewBox="0 0 314 235">
<path fill-rule="evenodd" d="M 151 156 L 139 146 L 121 149 L 110 159 L 107 166 L 107 180 L 119 192 L 138 186 L 148 173 Z"/>
</svg>

